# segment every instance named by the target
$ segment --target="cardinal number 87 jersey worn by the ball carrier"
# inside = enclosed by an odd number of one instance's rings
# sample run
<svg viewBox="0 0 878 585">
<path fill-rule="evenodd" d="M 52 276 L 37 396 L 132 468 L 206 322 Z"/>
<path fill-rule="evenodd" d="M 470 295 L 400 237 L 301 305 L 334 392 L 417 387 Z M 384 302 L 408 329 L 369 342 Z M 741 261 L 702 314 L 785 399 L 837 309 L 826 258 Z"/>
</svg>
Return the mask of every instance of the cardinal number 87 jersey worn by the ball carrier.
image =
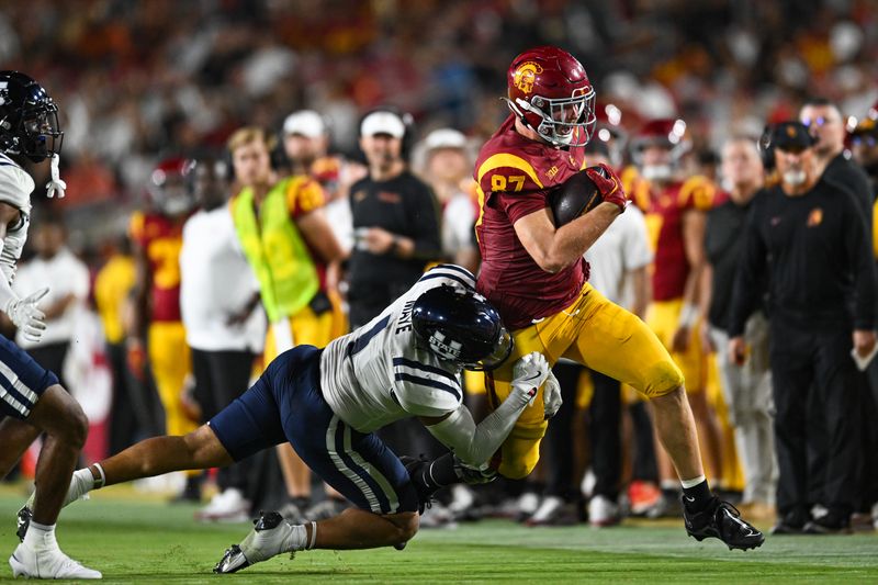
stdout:
<svg viewBox="0 0 878 585">
<path fill-rule="evenodd" d="M 474 178 L 481 207 L 475 224 L 482 269 L 476 288 L 510 329 L 569 306 L 582 291 L 585 260 L 555 274 L 537 265 L 513 227 L 549 206 L 548 190 L 585 167 L 585 149 L 559 149 L 515 131 L 509 115 L 479 154 Z"/>
</svg>

